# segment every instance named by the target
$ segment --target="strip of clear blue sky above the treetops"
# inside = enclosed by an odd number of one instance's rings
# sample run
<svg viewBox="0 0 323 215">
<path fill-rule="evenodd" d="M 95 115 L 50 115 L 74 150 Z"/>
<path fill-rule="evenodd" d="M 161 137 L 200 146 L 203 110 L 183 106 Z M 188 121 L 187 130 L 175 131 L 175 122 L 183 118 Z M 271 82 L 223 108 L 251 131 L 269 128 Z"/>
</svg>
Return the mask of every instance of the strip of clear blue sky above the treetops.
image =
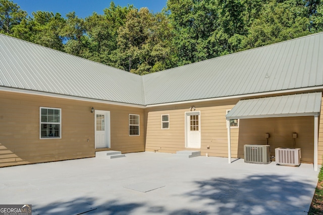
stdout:
<svg viewBox="0 0 323 215">
<path fill-rule="evenodd" d="M 92 15 L 93 12 L 103 13 L 104 8 L 109 8 L 110 0 L 13 0 L 20 8 L 27 11 L 29 16 L 35 11 L 49 11 L 60 13 L 63 17 L 75 11 L 80 18 Z M 115 0 L 116 5 L 126 7 L 134 5 L 135 8 L 147 7 L 153 13 L 160 12 L 166 7 L 167 0 Z"/>
</svg>

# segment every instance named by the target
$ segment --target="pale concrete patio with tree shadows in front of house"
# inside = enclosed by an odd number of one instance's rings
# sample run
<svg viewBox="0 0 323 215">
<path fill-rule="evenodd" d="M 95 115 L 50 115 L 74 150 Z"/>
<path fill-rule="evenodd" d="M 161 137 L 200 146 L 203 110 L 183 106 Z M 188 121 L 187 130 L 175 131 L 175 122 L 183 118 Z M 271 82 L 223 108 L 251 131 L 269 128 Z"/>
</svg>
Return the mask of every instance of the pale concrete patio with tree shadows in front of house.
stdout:
<svg viewBox="0 0 323 215">
<path fill-rule="evenodd" d="M 311 164 L 140 152 L 0 168 L 0 202 L 33 214 L 307 214 L 317 174 Z"/>
</svg>

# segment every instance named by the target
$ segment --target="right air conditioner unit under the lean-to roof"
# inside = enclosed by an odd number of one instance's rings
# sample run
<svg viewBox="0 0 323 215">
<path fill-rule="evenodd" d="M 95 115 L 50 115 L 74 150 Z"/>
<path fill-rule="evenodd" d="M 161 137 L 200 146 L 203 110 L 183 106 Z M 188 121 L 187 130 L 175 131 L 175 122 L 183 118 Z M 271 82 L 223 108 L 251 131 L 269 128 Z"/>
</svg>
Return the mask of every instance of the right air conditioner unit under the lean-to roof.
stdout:
<svg viewBox="0 0 323 215">
<path fill-rule="evenodd" d="M 275 159 L 278 165 L 299 166 L 301 164 L 301 149 L 275 148 Z"/>
</svg>

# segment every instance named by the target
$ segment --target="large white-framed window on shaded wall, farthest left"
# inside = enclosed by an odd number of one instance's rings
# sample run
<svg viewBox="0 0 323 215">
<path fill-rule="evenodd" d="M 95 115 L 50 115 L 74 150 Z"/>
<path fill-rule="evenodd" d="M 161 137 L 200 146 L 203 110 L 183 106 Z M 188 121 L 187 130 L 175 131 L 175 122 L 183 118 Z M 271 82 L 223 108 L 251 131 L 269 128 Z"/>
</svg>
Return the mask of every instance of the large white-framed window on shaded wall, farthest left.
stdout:
<svg viewBox="0 0 323 215">
<path fill-rule="evenodd" d="M 61 138 L 61 109 L 40 108 L 40 139 Z"/>
</svg>

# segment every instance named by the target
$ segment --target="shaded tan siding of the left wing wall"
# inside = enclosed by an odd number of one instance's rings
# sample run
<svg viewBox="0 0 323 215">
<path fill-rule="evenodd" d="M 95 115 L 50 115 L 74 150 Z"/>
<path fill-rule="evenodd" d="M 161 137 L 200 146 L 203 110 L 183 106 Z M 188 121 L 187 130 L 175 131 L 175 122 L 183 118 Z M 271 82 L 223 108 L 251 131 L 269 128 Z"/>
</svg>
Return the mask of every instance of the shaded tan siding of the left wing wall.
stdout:
<svg viewBox="0 0 323 215">
<path fill-rule="evenodd" d="M 61 139 L 39 139 L 40 106 L 62 109 Z M 0 167 L 95 156 L 92 106 L 111 112 L 112 150 L 144 151 L 143 109 L 0 91 Z M 129 136 L 129 114 L 140 136 Z"/>
</svg>

